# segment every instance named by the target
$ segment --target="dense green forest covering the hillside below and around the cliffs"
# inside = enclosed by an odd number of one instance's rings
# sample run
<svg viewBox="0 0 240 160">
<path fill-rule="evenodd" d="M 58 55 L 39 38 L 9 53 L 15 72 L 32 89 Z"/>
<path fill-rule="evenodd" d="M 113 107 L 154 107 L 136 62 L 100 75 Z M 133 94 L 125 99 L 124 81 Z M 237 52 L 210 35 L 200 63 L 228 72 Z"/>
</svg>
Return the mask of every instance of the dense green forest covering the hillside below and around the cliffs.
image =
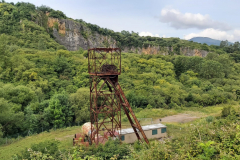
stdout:
<svg viewBox="0 0 240 160">
<path fill-rule="evenodd" d="M 89 121 L 87 51 L 81 48 L 68 51 L 58 44 L 52 35 L 53 28 L 47 26 L 48 17 L 68 18 L 63 12 L 47 6 L 36 7 L 24 2 L 0 3 L 0 139 L 29 130 L 38 133 L 42 127 L 60 128 Z M 205 107 L 238 98 L 239 42 L 228 45 L 227 41 L 222 41 L 220 46 L 208 46 L 179 38 L 141 37 L 135 32 L 114 32 L 83 20 L 74 21 L 85 24 L 92 32 L 113 37 L 119 47 L 174 47 L 177 54 L 169 56 L 122 53 L 120 84 L 136 112 L 145 108 Z M 209 53 L 205 58 L 182 56 L 180 47 L 199 48 Z M 231 114 L 233 118 L 228 123 L 237 126 L 237 114 Z M 208 125 L 215 130 L 221 121 Z M 239 126 L 233 134 L 237 130 Z M 198 133 L 196 130 L 192 132 L 194 139 Z M 223 136 L 221 133 L 220 139 Z M 204 138 L 209 140 L 207 136 Z M 239 143 L 237 138 L 236 144 Z M 114 143 L 109 142 L 109 146 L 116 145 Z M 132 156 L 138 158 L 144 149 L 143 153 L 149 151 L 144 155 L 146 158 L 155 152 L 167 158 L 169 147 L 174 145 L 169 142 L 166 148 L 148 148 L 136 144 Z M 176 146 L 179 145 L 176 142 Z M 193 150 L 191 154 L 197 155 L 194 152 L 196 145 L 191 142 L 188 145 Z M 202 144 L 201 153 L 205 154 L 204 147 L 207 145 L 211 144 Z M 128 152 L 124 147 L 119 148 L 124 153 Z M 187 154 L 187 151 L 172 149 L 176 154 Z M 211 151 L 206 154 L 213 156 Z"/>
</svg>

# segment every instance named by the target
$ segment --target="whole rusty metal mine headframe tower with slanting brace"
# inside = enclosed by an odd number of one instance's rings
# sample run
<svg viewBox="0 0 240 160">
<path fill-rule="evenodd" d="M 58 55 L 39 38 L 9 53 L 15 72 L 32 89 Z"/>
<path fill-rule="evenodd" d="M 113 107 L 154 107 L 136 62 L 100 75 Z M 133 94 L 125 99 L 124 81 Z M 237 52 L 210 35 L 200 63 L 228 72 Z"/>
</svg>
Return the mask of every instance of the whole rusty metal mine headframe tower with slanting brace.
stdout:
<svg viewBox="0 0 240 160">
<path fill-rule="evenodd" d="M 95 129 L 95 134 L 93 128 L 91 129 L 91 141 L 98 144 L 106 141 L 107 135 L 117 136 L 117 131 L 121 130 L 122 108 L 138 140 L 143 138 L 148 144 L 148 139 L 118 83 L 118 75 L 121 74 L 121 50 L 119 48 L 89 49 L 88 72 L 90 119 Z M 104 131 L 105 135 L 101 136 Z"/>
</svg>

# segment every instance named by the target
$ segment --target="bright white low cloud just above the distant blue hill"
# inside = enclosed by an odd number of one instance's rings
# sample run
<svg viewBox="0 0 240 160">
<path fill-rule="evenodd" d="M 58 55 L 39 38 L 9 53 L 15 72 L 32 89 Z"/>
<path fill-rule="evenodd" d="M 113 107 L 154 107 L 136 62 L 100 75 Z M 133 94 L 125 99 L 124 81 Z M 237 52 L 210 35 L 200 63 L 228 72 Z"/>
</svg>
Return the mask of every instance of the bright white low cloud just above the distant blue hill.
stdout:
<svg viewBox="0 0 240 160">
<path fill-rule="evenodd" d="M 190 33 L 184 36 L 184 39 L 191 39 L 193 37 L 209 37 L 217 40 L 228 40 L 230 42 L 236 42 L 240 40 L 240 30 L 234 30 L 233 33 L 226 31 L 220 31 L 213 28 L 205 29 L 199 33 Z"/>
</svg>

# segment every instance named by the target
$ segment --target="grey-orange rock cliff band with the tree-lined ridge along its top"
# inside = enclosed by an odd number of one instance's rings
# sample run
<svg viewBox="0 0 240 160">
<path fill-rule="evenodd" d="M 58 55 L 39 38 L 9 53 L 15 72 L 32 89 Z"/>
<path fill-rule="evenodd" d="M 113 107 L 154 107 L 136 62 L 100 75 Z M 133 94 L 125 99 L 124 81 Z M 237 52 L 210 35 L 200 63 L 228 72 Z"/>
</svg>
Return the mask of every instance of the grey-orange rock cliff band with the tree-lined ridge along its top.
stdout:
<svg viewBox="0 0 240 160">
<path fill-rule="evenodd" d="M 54 24 L 58 24 L 54 28 Z M 144 54 L 183 54 L 205 57 L 208 49 L 179 38 L 140 37 L 127 31 L 114 32 L 83 20 L 48 18 L 55 40 L 70 51 L 95 47 L 120 47 L 124 52 Z M 56 29 L 57 28 L 57 29 Z M 192 47 L 191 47 L 192 46 Z M 193 47 L 194 46 L 194 47 Z"/>
</svg>

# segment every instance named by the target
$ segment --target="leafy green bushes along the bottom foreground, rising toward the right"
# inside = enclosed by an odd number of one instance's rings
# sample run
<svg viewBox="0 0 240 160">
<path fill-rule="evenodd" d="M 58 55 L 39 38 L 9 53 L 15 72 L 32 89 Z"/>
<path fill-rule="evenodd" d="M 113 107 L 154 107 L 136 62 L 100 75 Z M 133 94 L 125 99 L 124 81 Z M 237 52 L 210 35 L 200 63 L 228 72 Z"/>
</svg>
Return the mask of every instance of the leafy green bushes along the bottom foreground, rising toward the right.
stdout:
<svg viewBox="0 0 240 160">
<path fill-rule="evenodd" d="M 226 114 L 226 110 L 230 110 Z M 240 108 L 225 107 L 219 117 L 206 117 L 181 126 L 181 134 L 169 133 L 161 141 L 151 140 L 150 144 L 135 142 L 120 144 L 119 140 L 109 140 L 105 145 L 73 147 L 68 151 L 58 151 L 44 142 L 32 145 L 23 155 L 48 157 L 48 159 L 239 159 L 240 158 Z M 43 146 L 46 149 L 43 150 Z M 27 154 L 26 154 L 27 153 Z M 57 153 L 57 154 L 56 154 Z M 19 156 L 21 157 L 21 156 Z M 41 158 L 39 158 L 41 159 Z"/>
</svg>

